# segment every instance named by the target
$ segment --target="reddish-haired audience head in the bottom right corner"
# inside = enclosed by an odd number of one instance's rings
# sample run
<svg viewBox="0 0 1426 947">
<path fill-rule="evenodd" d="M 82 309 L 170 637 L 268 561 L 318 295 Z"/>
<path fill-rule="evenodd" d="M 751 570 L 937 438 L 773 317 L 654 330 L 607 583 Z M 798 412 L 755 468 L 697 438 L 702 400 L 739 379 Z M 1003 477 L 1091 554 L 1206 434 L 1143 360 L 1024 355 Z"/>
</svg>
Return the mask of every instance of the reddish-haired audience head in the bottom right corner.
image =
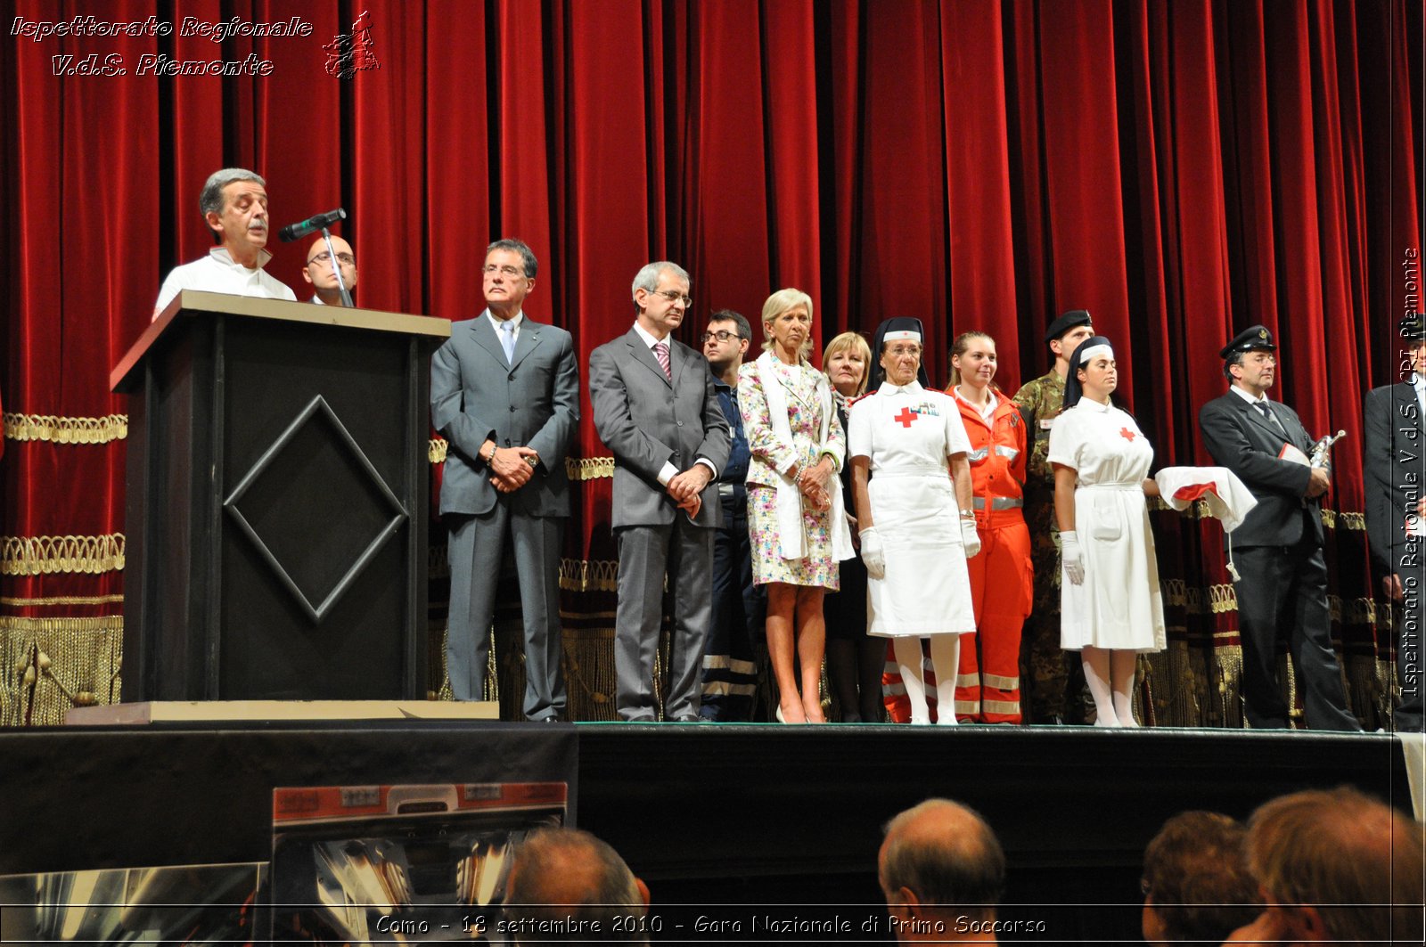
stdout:
<svg viewBox="0 0 1426 947">
<path fill-rule="evenodd" d="M 1266 907 L 1232 940 L 1422 944 L 1422 824 L 1363 793 L 1310 790 L 1248 821 L 1248 870 Z"/>
</svg>

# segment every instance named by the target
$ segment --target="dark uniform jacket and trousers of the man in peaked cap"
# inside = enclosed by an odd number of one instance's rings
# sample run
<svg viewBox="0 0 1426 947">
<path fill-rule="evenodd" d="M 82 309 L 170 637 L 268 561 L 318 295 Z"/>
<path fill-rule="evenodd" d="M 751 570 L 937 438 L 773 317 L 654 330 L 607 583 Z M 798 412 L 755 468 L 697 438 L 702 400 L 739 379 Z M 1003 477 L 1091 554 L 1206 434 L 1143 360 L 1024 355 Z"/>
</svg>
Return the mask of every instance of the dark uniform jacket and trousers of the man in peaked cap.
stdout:
<svg viewBox="0 0 1426 947">
<path fill-rule="evenodd" d="M 1269 409 L 1282 429 L 1231 391 L 1198 412 L 1214 462 L 1236 474 L 1258 499 L 1231 538 L 1242 576 L 1233 588 L 1243 649 L 1243 710 L 1253 727 L 1288 726 L 1278 682 L 1278 642 L 1286 640 L 1308 726 L 1360 730 L 1348 710 L 1342 669 L 1332 650 L 1322 508 L 1318 501 L 1303 503 L 1312 471 L 1278 459 L 1289 442 L 1310 451 L 1312 438 L 1292 408 L 1269 402 Z"/>
</svg>

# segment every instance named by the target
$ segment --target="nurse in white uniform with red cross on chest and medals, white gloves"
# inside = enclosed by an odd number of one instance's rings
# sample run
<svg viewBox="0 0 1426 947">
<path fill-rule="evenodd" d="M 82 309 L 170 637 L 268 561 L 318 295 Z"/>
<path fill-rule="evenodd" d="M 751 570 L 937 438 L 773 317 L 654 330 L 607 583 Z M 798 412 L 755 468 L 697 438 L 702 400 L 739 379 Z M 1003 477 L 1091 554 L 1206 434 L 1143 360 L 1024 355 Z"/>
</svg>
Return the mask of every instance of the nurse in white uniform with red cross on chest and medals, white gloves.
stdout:
<svg viewBox="0 0 1426 947">
<path fill-rule="evenodd" d="M 877 328 L 871 384 L 881 374 L 886 381 L 851 405 L 847 454 L 867 563 L 867 633 L 893 639 L 911 723 L 931 722 L 921 672 L 921 639 L 930 639 L 937 723 L 951 725 L 961 635 L 975 630 L 965 558 L 980 552 L 980 538 L 971 445 L 955 402 L 918 381 L 921 339 L 920 319 Z"/>
</svg>

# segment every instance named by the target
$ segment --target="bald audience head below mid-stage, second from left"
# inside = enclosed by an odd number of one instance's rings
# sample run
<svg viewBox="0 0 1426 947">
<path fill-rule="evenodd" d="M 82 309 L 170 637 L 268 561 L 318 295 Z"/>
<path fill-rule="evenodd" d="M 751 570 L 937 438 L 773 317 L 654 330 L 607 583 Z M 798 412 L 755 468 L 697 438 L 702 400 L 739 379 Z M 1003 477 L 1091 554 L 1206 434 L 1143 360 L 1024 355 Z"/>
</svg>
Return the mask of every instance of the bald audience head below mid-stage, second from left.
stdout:
<svg viewBox="0 0 1426 947">
<path fill-rule="evenodd" d="M 1005 854 L 971 809 L 928 799 L 898 814 L 886 826 L 877 876 L 897 940 L 995 943 Z"/>
</svg>

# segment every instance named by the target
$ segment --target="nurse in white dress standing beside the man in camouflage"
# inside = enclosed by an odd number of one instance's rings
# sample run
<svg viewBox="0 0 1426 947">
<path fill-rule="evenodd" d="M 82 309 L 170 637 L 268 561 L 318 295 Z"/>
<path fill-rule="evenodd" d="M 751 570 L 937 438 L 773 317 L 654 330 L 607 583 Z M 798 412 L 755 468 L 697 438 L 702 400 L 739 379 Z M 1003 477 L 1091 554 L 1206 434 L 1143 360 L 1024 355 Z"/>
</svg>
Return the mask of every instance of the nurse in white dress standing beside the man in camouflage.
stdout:
<svg viewBox="0 0 1426 947">
<path fill-rule="evenodd" d="M 1055 519 L 1062 543 L 1060 643 L 1078 650 L 1095 726 L 1132 727 L 1138 656 L 1164 650 L 1164 599 L 1145 495 L 1154 448 L 1109 401 L 1114 348 L 1095 335 L 1075 348 L 1065 409 L 1050 431 Z"/>
</svg>

